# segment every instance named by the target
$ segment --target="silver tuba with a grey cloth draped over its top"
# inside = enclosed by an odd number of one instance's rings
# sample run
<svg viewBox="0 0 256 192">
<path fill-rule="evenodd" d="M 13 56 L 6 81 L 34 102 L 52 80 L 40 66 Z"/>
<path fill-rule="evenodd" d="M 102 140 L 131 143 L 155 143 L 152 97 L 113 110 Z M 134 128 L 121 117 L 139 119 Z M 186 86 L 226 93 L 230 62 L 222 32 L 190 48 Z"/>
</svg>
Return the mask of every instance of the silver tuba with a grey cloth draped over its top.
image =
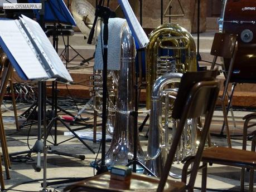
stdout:
<svg viewBox="0 0 256 192">
<path fill-rule="evenodd" d="M 113 30 L 111 28 L 111 21 L 112 19 L 109 21 L 109 32 Z M 109 107 L 111 107 L 109 110 L 111 116 L 108 117 L 108 122 L 114 127 L 112 142 L 106 154 L 105 164 L 108 167 L 126 165 L 128 160 L 133 158 L 134 118 L 131 112 L 134 111 L 135 107 L 136 48 L 132 33 L 126 21 L 120 27 L 119 33 L 120 67 L 119 70 L 108 70 L 108 103 Z M 114 34 L 111 34 L 111 36 L 118 38 Z M 96 74 L 96 78 L 94 77 L 94 90 L 96 91 L 94 106 L 95 109 L 100 109 L 100 105 L 102 104 L 99 91 L 102 90 L 102 83 L 100 81 L 102 77 L 100 76 L 100 71 L 96 68 L 94 68 L 94 74 Z M 143 151 L 139 141 L 137 143 L 137 149 L 138 158 L 143 159 Z"/>
</svg>

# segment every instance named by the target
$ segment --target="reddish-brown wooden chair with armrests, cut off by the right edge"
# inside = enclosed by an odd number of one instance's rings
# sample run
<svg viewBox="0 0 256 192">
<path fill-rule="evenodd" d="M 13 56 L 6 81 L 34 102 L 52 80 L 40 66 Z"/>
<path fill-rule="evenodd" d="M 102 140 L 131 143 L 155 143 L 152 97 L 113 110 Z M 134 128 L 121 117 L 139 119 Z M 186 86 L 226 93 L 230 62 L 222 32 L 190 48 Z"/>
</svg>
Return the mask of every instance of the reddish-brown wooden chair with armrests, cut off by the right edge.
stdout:
<svg viewBox="0 0 256 192">
<path fill-rule="evenodd" d="M 252 148 L 251 151 L 246 151 L 247 146 L 247 133 L 250 127 L 255 126 L 255 123 L 250 124 L 250 121 L 256 119 L 256 113 L 249 114 L 243 117 L 244 122 L 244 130 L 243 130 L 243 148 L 234 149 L 228 147 L 210 147 L 205 149 L 202 152 L 202 189 L 201 191 L 206 191 L 206 180 L 207 180 L 207 164 L 220 164 L 220 165 L 228 165 L 235 166 L 241 169 L 241 184 L 240 191 L 244 191 L 244 174 L 245 169 L 250 170 L 250 180 L 249 180 L 249 192 L 253 192 L 253 179 L 254 179 L 254 170 L 256 169 L 256 131 L 254 131 L 251 135 L 252 139 Z M 187 171 L 189 165 L 194 162 L 194 157 L 187 157 L 184 161 L 185 164 L 182 170 L 182 181 L 186 183 L 187 174 L 190 171 Z"/>
</svg>

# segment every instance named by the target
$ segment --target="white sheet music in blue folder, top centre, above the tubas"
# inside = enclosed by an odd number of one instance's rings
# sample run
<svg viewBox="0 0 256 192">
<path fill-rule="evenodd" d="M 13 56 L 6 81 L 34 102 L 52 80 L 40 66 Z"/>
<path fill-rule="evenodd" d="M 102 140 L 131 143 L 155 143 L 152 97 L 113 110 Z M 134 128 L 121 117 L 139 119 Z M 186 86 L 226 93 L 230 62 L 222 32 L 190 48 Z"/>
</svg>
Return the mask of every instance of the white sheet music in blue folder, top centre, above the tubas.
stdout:
<svg viewBox="0 0 256 192">
<path fill-rule="evenodd" d="M 148 37 L 141 27 L 141 24 L 139 24 L 128 0 L 118 0 L 118 3 L 122 7 L 124 16 L 127 19 L 128 25 L 132 31 L 132 35 L 136 42 L 136 48 L 138 49 L 146 47 L 149 43 Z"/>
</svg>

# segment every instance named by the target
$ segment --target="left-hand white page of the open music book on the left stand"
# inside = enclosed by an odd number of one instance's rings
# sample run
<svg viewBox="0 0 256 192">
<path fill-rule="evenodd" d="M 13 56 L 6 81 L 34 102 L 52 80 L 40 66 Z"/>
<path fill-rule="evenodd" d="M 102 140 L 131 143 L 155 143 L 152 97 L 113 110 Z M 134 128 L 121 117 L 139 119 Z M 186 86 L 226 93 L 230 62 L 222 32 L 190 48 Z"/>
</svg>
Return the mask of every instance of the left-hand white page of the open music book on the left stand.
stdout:
<svg viewBox="0 0 256 192">
<path fill-rule="evenodd" d="M 29 80 L 49 78 L 17 20 L 0 20 L 0 36 Z"/>
</svg>

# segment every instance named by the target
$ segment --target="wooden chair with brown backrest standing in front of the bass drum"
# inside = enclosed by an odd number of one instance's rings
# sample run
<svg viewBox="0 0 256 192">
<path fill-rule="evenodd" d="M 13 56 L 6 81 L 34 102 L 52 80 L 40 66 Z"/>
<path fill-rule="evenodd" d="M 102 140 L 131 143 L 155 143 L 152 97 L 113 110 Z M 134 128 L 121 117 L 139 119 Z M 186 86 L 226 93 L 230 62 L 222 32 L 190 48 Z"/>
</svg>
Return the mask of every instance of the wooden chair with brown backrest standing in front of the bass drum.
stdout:
<svg viewBox="0 0 256 192">
<path fill-rule="evenodd" d="M 224 60 L 230 61 L 229 66 L 224 63 L 221 64 L 225 76 L 225 85 L 223 90 L 223 95 L 221 96 L 221 107 L 223 109 L 224 125 L 226 126 L 226 135 L 228 137 L 228 146 L 231 147 L 229 124 L 228 124 L 228 111 L 226 110 L 225 99 L 228 97 L 229 104 L 231 104 L 231 99 L 228 95 L 228 86 L 233 72 L 233 65 L 235 60 L 236 51 L 238 50 L 238 43 L 236 41 L 237 35 L 225 34 L 225 33 L 215 33 L 214 41 L 212 42 L 211 55 L 214 56 L 212 61 L 211 70 L 214 69 L 218 57 L 223 57 Z M 228 67 L 228 68 L 227 68 Z M 226 71 L 228 70 L 228 71 Z M 233 94 L 231 93 L 231 96 Z"/>
</svg>

